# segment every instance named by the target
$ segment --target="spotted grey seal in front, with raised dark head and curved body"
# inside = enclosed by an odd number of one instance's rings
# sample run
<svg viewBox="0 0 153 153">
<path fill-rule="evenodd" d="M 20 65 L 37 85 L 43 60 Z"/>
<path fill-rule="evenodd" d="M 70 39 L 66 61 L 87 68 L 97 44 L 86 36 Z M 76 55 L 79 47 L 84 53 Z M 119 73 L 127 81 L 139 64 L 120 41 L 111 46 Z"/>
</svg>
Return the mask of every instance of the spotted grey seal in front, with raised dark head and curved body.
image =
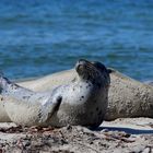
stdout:
<svg viewBox="0 0 153 153">
<path fill-rule="evenodd" d="M 10 119 L 23 126 L 98 127 L 107 109 L 109 73 L 101 62 L 84 59 L 76 62 L 75 71 L 75 79 L 49 92 L 33 92 L 1 76 Z"/>
</svg>

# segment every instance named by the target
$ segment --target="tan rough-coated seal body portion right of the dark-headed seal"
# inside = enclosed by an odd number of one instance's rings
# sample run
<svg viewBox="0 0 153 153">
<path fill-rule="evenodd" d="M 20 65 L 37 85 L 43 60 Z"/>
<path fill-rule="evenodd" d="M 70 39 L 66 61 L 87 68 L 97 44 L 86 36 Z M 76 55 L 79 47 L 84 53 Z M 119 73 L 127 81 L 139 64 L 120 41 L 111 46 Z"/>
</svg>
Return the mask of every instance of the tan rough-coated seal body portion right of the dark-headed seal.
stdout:
<svg viewBox="0 0 153 153">
<path fill-rule="evenodd" d="M 153 118 L 153 86 L 109 69 L 110 89 L 105 120 L 127 117 Z"/>
</svg>

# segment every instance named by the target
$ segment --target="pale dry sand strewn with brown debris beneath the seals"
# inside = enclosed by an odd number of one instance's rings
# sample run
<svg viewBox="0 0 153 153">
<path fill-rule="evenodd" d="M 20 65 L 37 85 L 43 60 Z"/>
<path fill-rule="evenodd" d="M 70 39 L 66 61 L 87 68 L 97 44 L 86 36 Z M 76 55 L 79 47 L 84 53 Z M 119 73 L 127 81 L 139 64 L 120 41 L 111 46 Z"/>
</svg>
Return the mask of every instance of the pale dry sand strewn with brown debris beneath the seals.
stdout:
<svg viewBox="0 0 153 153">
<path fill-rule="evenodd" d="M 0 123 L 0 152 L 7 153 L 153 153 L 153 119 L 104 121 L 96 130 Z"/>
</svg>

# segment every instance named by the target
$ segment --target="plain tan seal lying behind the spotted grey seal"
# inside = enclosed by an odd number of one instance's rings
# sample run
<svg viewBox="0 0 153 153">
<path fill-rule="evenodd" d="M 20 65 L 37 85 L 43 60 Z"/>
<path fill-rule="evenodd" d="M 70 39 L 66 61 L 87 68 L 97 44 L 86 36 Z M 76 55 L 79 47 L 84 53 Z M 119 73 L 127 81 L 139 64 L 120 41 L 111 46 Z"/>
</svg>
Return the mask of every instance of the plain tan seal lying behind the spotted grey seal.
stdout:
<svg viewBox="0 0 153 153">
<path fill-rule="evenodd" d="M 110 87 L 105 120 L 128 117 L 153 118 L 153 85 L 139 82 L 115 69 L 107 69 L 110 74 Z M 49 91 L 52 86 L 70 82 L 75 75 L 75 71 L 71 69 L 20 84 L 34 91 Z"/>
</svg>

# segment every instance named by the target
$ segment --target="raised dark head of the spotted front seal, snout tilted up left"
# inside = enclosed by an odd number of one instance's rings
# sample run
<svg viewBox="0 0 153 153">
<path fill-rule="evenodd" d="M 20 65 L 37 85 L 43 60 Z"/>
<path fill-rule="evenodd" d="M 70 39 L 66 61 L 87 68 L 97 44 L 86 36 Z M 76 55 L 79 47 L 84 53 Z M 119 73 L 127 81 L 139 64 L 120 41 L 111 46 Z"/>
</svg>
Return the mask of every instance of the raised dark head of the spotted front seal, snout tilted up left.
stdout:
<svg viewBox="0 0 153 153">
<path fill-rule="evenodd" d="M 109 80 L 109 74 L 106 67 L 101 62 L 91 62 L 85 59 L 80 59 L 75 64 L 75 70 L 80 78 L 101 82 Z M 109 81 L 108 81 L 109 82 Z"/>
</svg>

